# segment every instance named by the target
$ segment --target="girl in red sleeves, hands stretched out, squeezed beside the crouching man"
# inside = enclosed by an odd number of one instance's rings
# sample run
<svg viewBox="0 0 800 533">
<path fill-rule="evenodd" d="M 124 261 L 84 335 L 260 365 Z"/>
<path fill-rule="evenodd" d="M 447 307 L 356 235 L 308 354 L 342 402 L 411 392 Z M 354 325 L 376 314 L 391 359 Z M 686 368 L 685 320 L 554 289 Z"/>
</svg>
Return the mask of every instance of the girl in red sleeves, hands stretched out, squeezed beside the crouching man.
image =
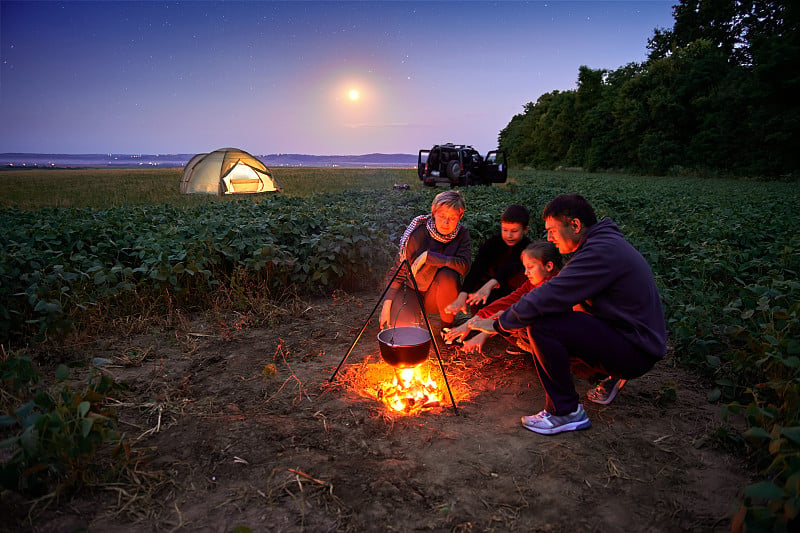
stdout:
<svg viewBox="0 0 800 533">
<path fill-rule="evenodd" d="M 472 330 L 491 330 L 492 323 L 503 311 L 517 302 L 522 295 L 534 290 L 536 287 L 552 278 L 561 270 L 563 262 L 558 249 L 551 242 L 534 241 L 529 244 L 521 254 L 522 264 L 525 267 L 525 283 L 511 294 L 504 296 L 478 311 L 474 317 L 464 324 L 444 332 L 445 342 L 462 342 L 462 349 L 467 353 L 482 352 L 483 345 L 494 334 L 480 331 L 477 335 L 466 339 Z M 480 327 L 482 326 L 482 327 Z M 466 340 L 465 340 L 466 339 Z M 519 354 L 514 347 L 507 350 L 510 354 Z M 527 348 L 524 351 L 530 352 Z"/>
</svg>

